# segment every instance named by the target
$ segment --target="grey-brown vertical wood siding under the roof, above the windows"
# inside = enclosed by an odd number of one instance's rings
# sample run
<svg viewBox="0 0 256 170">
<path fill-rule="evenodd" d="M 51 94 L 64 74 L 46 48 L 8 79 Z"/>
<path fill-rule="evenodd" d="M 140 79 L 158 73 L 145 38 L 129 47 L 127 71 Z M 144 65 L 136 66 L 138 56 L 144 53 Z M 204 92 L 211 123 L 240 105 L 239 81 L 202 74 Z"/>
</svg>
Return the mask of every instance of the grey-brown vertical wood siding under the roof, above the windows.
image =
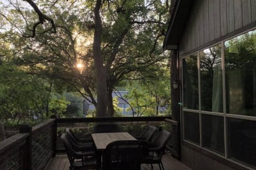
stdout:
<svg viewBox="0 0 256 170">
<path fill-rule="evenodd" d="M 180 56 L 227 38 L 249 24 L 253 27 L 255 21 L 255 0 L 197 0 L 180 39 Z"/>
</svg>

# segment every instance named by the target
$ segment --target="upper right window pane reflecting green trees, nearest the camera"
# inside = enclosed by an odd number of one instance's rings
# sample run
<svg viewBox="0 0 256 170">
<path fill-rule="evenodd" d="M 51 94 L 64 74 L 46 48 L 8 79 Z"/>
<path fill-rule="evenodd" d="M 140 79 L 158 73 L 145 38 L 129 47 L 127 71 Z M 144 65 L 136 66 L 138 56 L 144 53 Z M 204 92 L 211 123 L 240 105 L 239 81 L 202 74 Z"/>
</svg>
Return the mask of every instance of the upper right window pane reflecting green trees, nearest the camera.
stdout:
<svg viewBox="0 0 256 170">
<path fill-rule="evenodd" d="M 256 116 L 256 30 L 225 42 L 227 113 Z"/>
</svg>

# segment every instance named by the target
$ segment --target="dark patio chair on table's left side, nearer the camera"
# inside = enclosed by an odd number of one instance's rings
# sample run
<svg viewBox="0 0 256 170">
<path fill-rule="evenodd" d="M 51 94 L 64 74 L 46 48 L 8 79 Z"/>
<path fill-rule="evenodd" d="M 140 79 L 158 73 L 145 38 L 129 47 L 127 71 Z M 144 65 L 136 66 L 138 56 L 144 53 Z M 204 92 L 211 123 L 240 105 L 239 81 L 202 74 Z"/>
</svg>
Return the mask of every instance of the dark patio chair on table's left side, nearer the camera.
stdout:
<svg viewBox="0 0 256 170">
<path fill-rule="evenodd" d="M 76 152 L 73 149 L 66 133 L 61 135 L 61 140 L 68 155 L 70 170 L 99 169 L 95 159 L 95 152 Z"/>
</svg>

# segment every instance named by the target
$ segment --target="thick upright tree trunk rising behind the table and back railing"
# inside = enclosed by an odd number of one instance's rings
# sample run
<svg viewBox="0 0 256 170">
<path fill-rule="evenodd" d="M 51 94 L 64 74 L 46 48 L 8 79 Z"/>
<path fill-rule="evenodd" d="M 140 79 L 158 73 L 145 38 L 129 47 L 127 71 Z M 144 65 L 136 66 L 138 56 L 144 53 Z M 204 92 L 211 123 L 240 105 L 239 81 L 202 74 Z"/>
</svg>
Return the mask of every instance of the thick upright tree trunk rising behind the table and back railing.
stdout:
<svg viewBox="0 0 256 170">
<path fill-rule="evenodd" d="M 96 116 L 107 116 L 107 73 L 101 54 L 102 23 L 100 18 L 101 0 L 94 7 L 95 30 L 93 37 L 93 61 L 97 77 L 97 111 Z"/>
</svg>

